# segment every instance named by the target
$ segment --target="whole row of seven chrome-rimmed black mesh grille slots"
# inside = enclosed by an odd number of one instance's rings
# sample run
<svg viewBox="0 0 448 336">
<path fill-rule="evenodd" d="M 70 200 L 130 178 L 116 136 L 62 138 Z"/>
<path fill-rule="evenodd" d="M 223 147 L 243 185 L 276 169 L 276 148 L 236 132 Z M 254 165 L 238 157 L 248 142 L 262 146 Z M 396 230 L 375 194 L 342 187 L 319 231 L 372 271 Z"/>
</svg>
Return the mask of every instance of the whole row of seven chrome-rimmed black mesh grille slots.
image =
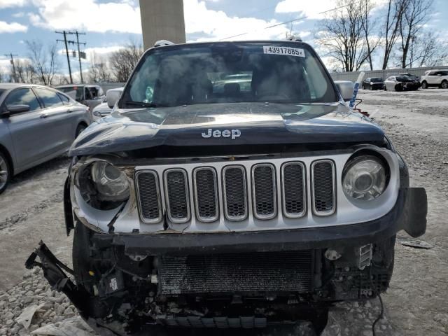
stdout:
<svg viewBox="0 0 448 336">
<path fill-rule="evenodd" d="M 227 165 L 222 169 L 197 167 L 193 176 L 185 169 L 167 169 L 160 181 L 165 191 L 166 214 L 172 223 L 190 221 L 192 212 L 197 221 L 215 222 L 220 217 L 221 200 L 223 215 L 228 221 L 244 221 L 249 216 L 249 201 L 253 216 L 259 220 L 275 218 L 278 207 L 283 216 L 300 218 L 307 213 L 307 167 L 302 162 L 286 162 L 280 170 L 281 197 L 277 200 L 277 172 L 270 163 L 255 164 L 250 170 L 243 165 Z M 332 160 L 314 161 L 309 173 L 313 214 L 330 216 L 336 206 L 335 164 Z M 158 174 L 141 170 L 136 174 L 136 184 L 142 221 L 160 223 L 164 207 Z M 190 209 L 190 203 L 194 210 Z"/>
</svg>

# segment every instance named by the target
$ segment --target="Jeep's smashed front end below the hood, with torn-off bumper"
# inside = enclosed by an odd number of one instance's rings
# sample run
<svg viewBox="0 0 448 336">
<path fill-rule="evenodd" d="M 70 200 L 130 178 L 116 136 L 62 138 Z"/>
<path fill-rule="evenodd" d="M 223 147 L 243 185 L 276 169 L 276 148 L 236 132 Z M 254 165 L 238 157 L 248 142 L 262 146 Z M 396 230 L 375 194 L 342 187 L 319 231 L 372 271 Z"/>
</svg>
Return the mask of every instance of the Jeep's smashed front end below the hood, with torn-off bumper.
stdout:
<svg viewBox="0 0 448 336">
<path fill-rule="evenodd" d="M 405 165 L 394 153 L 363 146 L 333 154 L 332 162 L 344 167 L 353 155 L 366 150 L 381 153 L 389 160 L 391 176 L 384 195 L 389 193 L 393 204 L 386 214 L 359 223 L 330 225 L 333 222 L 328 221 L 328 225 L 304 228 L 300 225 L 325 223 L 336 215 L 341 220 L 350 214 L 343 207 L 344 194 L 335 195 L 339 208 L 326 218 L 315 216 L 312 209 L 305 210 L 302 218 L 288 218 L 285 210 L 279 209 L 276 218 L 265 220 L 250 214 L 240 220 L 247 228 L 223 230 L 236 223 L 226 221 L 225 211 L 220 211 L 216 223 L 200 223 L 193 222 L 199 216 L 198 209 L 192 208 L 187 223 L 176 223 L 172 221 L 175 197 L 171 203 L 162 197 L 160 209 L 157 202 L 153 208 L 143 202 L 142 195 L 146 200 L 151 195 L 161 197 L 161 193 L 169 197 L 169 188 L 160 186 L 169 183 L 170 176 L 164 179 L 163 174 L 178 162 L 169 162 L 167 168 L 160 161 L 157 165 L 145 162 L 130 166 L 120 163 L 120 158 L 82 158 L 73 165 L 64 192 L 67 233 L 74 229 L 73 271 L 43 243 L 27 260 L 27 267 L 42 267 L 52 287 L 65 293 L 100 335 L 146 335 L 148 330 L 162 332 L 171 328 L 257 330 L 300 321 L 309 321 L 320 332 L 332 302 L 365 300 L 388 288 L 398 230 L 417 237 L 426 228 L 426 193 L 422 188 L 407 187 Z M 251 158 L 247 164 L 258 167 L 257 162 L 264 160 L 267 158 Z M 269 160 L 281 171 L 283 161 L 294 159 L 270 155 Z M 300 167 L 312 167 L 316 158 L 302 155 L 300 160 Z M 110 177 L 120 181 L 114 185 L 121 190 L 115 194 L 120 197 L 99 195 L 92 189 L 95 179 L 101 181 L 93 176 L 98 162 L 103 168 L 102 162 L 108 162 L 123 173 L 109 171 Z M 223 158 L 218 162 L 205 165 L 215 166 L 223 174 L 223 166 L 235 167 Z M 246 165 L 244 160 L 239 163 Z M 149 164 L 153 170 L 148 170 Z M 193 176 L 192 181 L 197 181 L 196 169 L 203 166 L 202 162 L 183 162 L 186 175 L 176 174 L 174 181 L 179 183 L 182 176 Z M 158 193 L 151 194 L 144 187 L 151 185 L 149 177 L 159 175 L 151 173 L 144 180 L 137 172 L 156 169 L 161 172 L 160 185 L 153 185 L 151 190 Z M 226 192 L 230 193 L 230 189 Z M 194 198 L 197 189 L 190 190 L 188 197 L 199 202 Z M 281 197 L 279 202 L 287 195 Z M 377 203 L 377 208 L 380 206 Z M 370 216 L 369 211 L 377 208 L 366 209 L 360 216 Z M 153 212 L 145 213 L 144 209 Z M 157 220 L 148 221 L 150 216 Z M 269 225 L 285 226 L 273 230 Z M 36 262 L 36 257 L 41 261 Z M 65 272 L 74 277 L 74 282 Z"/>
</svg>

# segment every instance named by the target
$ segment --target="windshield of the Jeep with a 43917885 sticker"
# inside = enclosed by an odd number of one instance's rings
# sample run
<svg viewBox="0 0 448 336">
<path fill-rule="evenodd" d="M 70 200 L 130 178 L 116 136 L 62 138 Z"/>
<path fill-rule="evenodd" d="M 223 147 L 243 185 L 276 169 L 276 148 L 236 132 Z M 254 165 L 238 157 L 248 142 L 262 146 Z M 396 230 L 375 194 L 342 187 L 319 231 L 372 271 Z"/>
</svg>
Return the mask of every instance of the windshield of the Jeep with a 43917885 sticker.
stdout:
<svg viewBox="0 0 448 336">
<path fill-rule="evenodd" d="M 313 50 L 299 43 L 178 45 L 146 53 L 120 107 L 337 102 Z M 132 104 L 133 103 L 133 104 Z"/>
</svg>

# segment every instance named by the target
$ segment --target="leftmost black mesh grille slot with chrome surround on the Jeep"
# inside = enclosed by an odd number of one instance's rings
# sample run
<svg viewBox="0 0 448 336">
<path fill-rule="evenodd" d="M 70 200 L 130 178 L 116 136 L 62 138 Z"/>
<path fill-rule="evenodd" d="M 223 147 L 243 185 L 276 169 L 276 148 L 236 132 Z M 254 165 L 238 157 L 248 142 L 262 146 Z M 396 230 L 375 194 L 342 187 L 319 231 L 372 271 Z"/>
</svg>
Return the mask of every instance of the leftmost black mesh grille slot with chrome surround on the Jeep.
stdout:
<svg viewBox="0 0 448 336">
<path fill-rule="evenodd" d="M 141 170 L 135 174 L 134 179 L 141 221 L 147 224 L 159 223 L 162 221 L 163 212 L 157 172 Z M 144 179 L 146 181 L 143 181 Z"/>
</svg>

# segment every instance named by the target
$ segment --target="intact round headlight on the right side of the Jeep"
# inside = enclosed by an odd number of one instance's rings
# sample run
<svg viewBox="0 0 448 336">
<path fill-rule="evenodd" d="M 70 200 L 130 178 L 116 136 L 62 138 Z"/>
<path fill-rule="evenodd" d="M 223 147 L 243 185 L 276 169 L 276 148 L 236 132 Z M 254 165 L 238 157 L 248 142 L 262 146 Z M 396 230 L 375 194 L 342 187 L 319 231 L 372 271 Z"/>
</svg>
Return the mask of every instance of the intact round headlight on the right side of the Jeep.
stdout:
<svg viewBox="0 0 448 336">
<path fill-rule="evenodd" d="M 349 161 L 342 174 L 345 195 L 356 200 L 374 200 L 386 189 L 386 168 L 373 155 Z"/>
</svg>

